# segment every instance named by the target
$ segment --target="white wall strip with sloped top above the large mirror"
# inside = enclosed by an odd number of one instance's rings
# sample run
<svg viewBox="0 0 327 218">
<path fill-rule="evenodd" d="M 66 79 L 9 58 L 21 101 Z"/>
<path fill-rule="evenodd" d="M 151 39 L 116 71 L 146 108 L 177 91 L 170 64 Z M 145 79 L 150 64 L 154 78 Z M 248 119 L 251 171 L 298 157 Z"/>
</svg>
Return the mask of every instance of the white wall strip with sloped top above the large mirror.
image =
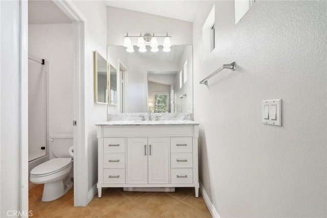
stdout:
<svg viewBox="0 0 327 218">
<path fill-rule="evenodd" d="M 122 46 L 124 36 L 139 35 L 154 32 L 155 35 L 166 35 L 171 38 L 172 45 L 192 45 L 192 23 L 168 17 L 162 17 L 121 8 L 108 7 L 107 43 L 112 46 Z M 136 40 L 137 38 L 133 38 Z M 157 38 L 162 45 L 164 38 Z"/>
</svg>

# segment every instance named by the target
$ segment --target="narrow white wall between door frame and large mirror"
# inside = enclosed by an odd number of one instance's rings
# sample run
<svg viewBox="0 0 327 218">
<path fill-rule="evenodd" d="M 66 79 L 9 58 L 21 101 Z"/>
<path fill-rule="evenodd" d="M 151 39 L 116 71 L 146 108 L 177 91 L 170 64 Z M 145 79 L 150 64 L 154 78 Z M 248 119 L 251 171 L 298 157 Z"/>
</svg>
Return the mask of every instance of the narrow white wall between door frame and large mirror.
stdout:
<svg viewBox="0 0 327 218">
<path fill-rule="evenodd" d="M 88 190 L 98 182 L 98 122 L 107 120 L 105 104 L 94 102 L 94 51 L 106 54 L 107 8 L 103 1 L 73 1 L 77 9 L 85 17 L 85 132 L 88 160 Z M 90 194 L 90 193 L 89 193 Z"/>
</svg>

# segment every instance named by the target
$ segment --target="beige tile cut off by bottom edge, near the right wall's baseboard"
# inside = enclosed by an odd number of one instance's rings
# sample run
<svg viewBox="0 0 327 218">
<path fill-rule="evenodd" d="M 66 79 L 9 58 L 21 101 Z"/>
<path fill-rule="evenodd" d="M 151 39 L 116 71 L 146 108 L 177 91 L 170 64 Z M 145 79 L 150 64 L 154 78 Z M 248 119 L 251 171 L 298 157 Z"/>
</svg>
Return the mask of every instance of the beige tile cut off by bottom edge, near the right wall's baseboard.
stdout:
<svg viewBox="0 0 327 218">
<path fill-rule="evenodd" d="M 175 207 L 170 208 L 166 212 L 162 213 L 160 217 L 169 217 L 169 218 L 204 218 L 211 217 L 194 207 L 191 207 L 183 202 L 179 202 Z"/>
</svg>

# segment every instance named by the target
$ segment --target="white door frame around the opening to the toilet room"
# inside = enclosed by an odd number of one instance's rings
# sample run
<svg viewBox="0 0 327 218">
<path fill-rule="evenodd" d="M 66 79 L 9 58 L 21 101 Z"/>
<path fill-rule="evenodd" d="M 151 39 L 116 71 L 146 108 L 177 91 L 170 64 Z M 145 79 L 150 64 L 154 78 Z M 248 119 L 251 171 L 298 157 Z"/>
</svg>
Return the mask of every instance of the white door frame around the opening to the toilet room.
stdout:
<svg viewBox="0 0 327 218">
<path fill-rule="evenodd" d="M 53 1 L 73 20 L 74 41 L 74 206 L 88 204 L 87 148 L 85 134 L 85 18 L 68 0 Z M 20 0 L 19 67 L 20 67 L 20 211 L 28 211 L 28 1 Z M 72 120 L 73 125 L 73 120 Z M 77 167 L 78 166 L 78 167 Z M 27 214 L 28 215 L 28 214 Z"/>
</svg>

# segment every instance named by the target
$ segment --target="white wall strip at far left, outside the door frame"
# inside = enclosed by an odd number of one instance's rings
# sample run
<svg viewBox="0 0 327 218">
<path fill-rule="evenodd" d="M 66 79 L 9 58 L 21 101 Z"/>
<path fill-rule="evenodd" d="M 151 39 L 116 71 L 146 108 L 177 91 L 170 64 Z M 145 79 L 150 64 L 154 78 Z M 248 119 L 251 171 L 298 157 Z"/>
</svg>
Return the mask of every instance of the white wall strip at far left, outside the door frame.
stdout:
<svg viewBox="0 0 327 218">
<path fill-rule="evenodd" d="M 19 2 L 0 1 L 0 217 L 19 210 Z"/>
</svg>

